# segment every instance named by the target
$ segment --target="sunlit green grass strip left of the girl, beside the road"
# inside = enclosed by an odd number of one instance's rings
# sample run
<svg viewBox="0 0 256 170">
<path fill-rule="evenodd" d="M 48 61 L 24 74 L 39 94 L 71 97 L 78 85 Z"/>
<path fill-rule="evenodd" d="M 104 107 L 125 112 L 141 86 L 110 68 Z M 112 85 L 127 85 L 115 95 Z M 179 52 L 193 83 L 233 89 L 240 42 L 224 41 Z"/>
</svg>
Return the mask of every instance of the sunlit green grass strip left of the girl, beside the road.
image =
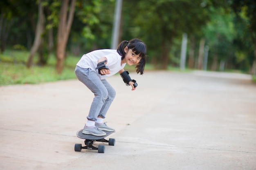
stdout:
<svg viewBox="0 0 256 170">
<path fill-rule="evenodd" d="M 0 85 L 11 84 L 38 84 L 54 82 L 65 79 L 75 79 L 74 69 L 79 57 L 69 56 L 65 60 L 65 68 L 61 75 L 55 70 L 56 59 L 54 55 L 49 57 L 46 66 L 38 66 L 35 63 L 38 56 L 34 56 L 33 66 L 26 67 L 29 56 L 27 51 L 7 51 L 0 54 Z"/>
</svg>

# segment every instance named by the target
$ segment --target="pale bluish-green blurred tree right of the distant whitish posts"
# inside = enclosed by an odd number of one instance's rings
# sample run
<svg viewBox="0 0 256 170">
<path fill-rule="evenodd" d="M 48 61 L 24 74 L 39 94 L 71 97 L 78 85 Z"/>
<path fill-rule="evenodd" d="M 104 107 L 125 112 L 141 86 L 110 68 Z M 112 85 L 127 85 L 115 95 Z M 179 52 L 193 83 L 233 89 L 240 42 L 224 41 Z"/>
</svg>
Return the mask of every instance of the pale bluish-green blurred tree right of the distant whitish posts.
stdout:
<svg viewBox="0 0 256 170">
<path fill-rule="evenodd" d="M 210 20 L 202 30 L 210 48 L 208 63 L 211 70 L 216 71 L 221 61 L 230 67 L 232 65 L 234 15 L 226 7 L 211 7 L 210 11 Z"/>
</svg>

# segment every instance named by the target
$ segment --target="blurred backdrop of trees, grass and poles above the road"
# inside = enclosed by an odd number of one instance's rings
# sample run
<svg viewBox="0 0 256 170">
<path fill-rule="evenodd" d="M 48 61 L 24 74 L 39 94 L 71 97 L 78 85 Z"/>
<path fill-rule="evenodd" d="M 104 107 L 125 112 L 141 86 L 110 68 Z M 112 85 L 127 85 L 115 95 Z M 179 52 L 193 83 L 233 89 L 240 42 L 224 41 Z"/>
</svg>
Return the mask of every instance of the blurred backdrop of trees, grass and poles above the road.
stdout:
<svg viewBox="0 0 256 170">
<path fill-rule="evenodd" d="M 255 75 L 256 1 L 1 0 L 0 85 L 75 78 L 83 54 L 132 38 L 146 70 Z"/>
</svg>

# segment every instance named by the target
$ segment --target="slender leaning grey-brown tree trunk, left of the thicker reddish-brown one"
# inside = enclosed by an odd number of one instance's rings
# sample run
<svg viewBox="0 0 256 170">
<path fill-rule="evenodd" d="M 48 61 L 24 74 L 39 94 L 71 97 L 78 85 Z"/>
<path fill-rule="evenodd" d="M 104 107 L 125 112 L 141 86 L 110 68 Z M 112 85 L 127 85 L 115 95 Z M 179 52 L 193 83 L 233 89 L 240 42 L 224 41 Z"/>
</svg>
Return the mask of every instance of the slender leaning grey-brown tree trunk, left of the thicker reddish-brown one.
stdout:
<svg viewBox="0 0 256 170">
<path fill-rule="evenodd" d="M 34 43 L 31 47 L 30 53 L 29 53 L 29 58 L 27 60 L 27 67 L 30 68 L 32 65 L 32 61 L 33 61 L 33 57 L 36 53 L 36 51 L 38 51 L 38 48 L 40 46 L 40 44 L 42 43 L 42 34 L 44 31 L 44 24 L 45 24 L 45 16 L 43 14 L 43 6 L 42 6 L 42 2 L 41 0 L 39 0 L 39 4 L 38 4 L 38 22 L 36 25 L 36 37 L 34 40 Z"/>
</svg>

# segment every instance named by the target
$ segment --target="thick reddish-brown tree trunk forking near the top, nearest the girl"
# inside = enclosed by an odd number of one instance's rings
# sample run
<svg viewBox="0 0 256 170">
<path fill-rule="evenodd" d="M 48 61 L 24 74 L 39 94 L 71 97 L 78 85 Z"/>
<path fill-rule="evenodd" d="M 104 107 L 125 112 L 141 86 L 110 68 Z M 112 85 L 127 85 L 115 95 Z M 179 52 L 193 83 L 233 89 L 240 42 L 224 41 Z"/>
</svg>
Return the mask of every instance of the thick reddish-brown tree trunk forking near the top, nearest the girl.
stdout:
<svg viewBox="0 0 256 170">
<path fill-rule="evenodd" d="M 61 74 L 64 67 L 65 49 L 67 45 L 67 39 L 70 33 L 72 21 L 74 18 L 76 0 L 72 0 L 70 4 L 70 11 L 67 16 L 69 0 L 63 0 L 61 5 L 61 12 L 59 16 L 58 35 L 57 35 L 57 49 L 56 49 L 56 70 L 58 74 Z M 67 18 L 68 17 L 68 18 Z"/>
</svg>

